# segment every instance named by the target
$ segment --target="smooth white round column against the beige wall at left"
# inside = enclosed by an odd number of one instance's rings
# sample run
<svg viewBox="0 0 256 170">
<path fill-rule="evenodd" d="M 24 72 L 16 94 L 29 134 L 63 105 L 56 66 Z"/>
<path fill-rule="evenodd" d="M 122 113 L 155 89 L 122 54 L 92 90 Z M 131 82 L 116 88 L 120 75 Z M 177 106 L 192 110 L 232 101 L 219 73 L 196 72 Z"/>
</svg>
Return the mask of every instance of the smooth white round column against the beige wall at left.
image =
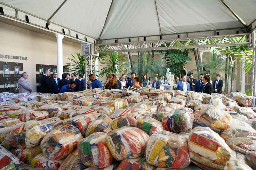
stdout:
<svg viewBox="0 0 256 170">
<path fill-rule="evenodd" d="M 62 39 L 64 38 L 64 36 L 56 33 L 55 33 L 55 36 L 57 38 L 57 72 L 58 72 L 58 78 L 61 79 L 63 74 Z"/>
</svg>

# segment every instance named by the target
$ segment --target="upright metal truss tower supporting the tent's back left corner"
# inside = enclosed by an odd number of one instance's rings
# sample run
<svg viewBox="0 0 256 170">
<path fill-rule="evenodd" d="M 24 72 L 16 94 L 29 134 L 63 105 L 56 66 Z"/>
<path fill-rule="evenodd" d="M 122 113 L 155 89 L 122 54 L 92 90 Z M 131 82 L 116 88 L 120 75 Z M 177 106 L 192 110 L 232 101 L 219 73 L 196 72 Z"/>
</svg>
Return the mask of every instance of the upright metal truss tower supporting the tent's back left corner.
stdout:
<svg viewBox="0 0 256 170">
<path fill-rule="evenodd" d="M 95 46 L 92 44 L 88 44 L 85 42 L 81 43 L 82 47 L 82 56 L 85 56 L 85 89 L 87 89 L 87 85 L 90 86 L 90 89 L 92 89 L 90 80 L 87 81 L 87 77 L 90 74 L 96 75 L 96 56 L 99 56 L 99 54 L 95 54 L 94 51 L 97 51 Z"/>
</svg>

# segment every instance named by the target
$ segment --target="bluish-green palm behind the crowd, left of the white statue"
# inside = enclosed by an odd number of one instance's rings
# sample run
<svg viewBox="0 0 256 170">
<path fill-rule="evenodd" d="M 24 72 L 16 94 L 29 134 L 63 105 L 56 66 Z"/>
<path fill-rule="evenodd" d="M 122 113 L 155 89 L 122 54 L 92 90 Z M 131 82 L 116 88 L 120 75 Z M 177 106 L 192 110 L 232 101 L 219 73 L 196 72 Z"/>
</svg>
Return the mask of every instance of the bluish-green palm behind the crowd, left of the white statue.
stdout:
<svg viewBox="0 0 256 170">
<path fill-rule="evenodd" d="M 141 55 L 132 56 L 132 70 L 137 74 L 137 77 L 143 78 L 146 74 L 148 78 L 154 80 L 154 77 L 160 78 L 161 75 L 161 65 L 164 64 L 163 61 L 154 60 L 157 56 L 149 59 L 150 51 L 142 51 Z M 130 76 L 131 72 L 127 74 Z"/>
</svg>

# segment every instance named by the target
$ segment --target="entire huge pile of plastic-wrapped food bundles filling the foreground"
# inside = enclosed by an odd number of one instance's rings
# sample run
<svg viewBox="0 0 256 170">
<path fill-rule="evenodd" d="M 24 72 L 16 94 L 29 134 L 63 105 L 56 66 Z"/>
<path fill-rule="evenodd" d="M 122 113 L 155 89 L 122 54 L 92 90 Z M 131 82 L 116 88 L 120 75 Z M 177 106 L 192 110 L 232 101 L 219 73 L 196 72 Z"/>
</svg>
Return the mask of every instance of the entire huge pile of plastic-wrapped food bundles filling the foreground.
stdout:
<svg viewBox="0 0 256 170">
<path fill-rule="evenodd" d="M 256 98 L 0 93 L 0 170 L 256 170 Z"/>
</svg>

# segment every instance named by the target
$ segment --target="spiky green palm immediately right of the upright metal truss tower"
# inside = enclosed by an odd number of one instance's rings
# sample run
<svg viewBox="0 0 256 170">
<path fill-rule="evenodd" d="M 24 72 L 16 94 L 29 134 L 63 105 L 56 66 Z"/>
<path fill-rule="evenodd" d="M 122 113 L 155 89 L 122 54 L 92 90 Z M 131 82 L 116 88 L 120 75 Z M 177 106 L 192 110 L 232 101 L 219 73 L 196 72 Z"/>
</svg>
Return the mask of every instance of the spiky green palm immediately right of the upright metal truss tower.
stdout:
<svg viewBox="0 0 256 170">
<path fill-rule="evenodd" d="M 128 66 L 128 61 L 124 53 L 109 53 L 106 58 L 102 58 L 101 64 L 105 65 L 100 70 L 100 77 L 108 77 L 109 74 L 122 74 Z"/>
</svg>

